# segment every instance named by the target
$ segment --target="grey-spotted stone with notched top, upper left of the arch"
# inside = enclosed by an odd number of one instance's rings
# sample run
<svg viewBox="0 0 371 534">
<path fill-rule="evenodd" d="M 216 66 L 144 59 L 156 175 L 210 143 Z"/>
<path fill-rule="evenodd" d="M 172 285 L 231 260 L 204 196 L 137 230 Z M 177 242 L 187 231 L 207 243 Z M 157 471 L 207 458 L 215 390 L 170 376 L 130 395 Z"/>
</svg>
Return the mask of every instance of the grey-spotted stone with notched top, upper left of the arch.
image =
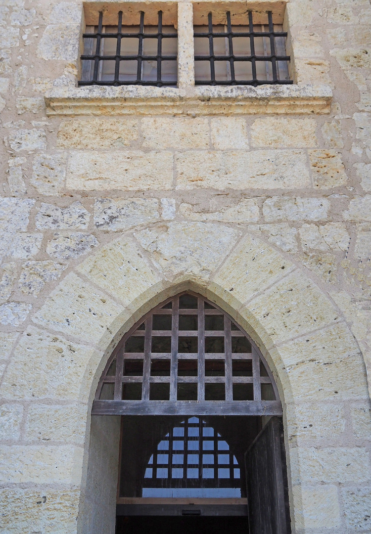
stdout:
<svg viewBox="0 0 371 534">
<path fill-rule="evenodd" d="M 89 219 L 89 211 L 78 200 L 66 208 L 43 202 L 36 215 L 36 228 L 39 230 L 86 229 Z"/>
</svg>

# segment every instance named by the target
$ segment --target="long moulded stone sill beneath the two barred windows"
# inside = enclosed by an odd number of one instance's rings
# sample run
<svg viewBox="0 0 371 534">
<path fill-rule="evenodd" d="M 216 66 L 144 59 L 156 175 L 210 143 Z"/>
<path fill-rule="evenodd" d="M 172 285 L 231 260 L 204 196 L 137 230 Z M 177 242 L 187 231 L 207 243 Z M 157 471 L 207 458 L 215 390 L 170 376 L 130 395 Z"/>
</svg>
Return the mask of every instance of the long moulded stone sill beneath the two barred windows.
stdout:
<svg viewBox="0 0 371 534">
<path fill-rule="evenodd" d="M 328 85 L 69 87 L 45 95 L 47 115 L 329 113 Z"/>
</svg>

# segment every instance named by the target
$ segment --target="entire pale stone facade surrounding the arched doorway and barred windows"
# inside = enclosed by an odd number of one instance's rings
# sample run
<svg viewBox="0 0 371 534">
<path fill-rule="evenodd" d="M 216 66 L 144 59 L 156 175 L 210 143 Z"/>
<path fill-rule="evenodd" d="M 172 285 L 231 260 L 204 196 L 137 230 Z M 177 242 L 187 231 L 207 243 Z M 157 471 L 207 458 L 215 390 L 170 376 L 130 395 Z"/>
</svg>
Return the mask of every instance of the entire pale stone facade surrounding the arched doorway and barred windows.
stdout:
<svg viewBox="0 0 371 534">
<path fill-rule="evenodd" d="M 281 11 L 290 87 L 195 89 L 181 1 L 179 88 L 79 89 L 82 2 L 0 0 L 4 534 L 98 532 L 98 379 L 187 288 L 272 368 L 292 532 L 371 532 L 371 5 Z"/>
</svg>

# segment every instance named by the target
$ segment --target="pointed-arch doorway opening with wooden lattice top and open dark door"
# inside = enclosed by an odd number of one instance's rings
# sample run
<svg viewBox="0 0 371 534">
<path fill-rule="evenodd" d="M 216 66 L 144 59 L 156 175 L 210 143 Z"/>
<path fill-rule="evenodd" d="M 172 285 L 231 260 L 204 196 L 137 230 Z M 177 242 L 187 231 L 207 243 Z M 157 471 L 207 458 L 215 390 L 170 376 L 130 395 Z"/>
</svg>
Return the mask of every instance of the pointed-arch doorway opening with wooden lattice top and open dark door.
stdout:
<svg viewBox="0 0 371 534">
<path fill-rule="evenodd" d="M 197 528 L 184 516 L 290 532 L 273 375 L 248 334 L 201 295 L 166 300 L 122 337 L 92 414 L 121 416 L 117 534 L 130 518 L 138 531 L 138 517 L 158 516 L 181 533 Z"/>
</svg>

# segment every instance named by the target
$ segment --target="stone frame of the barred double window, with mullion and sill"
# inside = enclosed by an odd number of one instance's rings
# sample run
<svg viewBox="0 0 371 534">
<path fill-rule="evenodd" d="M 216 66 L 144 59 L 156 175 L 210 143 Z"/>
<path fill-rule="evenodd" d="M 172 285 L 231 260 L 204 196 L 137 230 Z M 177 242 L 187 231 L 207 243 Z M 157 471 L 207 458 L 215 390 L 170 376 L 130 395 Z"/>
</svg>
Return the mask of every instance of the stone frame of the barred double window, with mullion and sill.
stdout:
<svg viewBox="0 0 371 534">
<path fill-rule="evenodd" d="M 111 6 L 112 12 L 129 7 L 133 2 L 116 2 Z M 152 5 L 151 5 L 152 4 Z M 300 48 L 292 40 L 290 33 L 290 10 L 287 2 L 282 0 L 247 0 L 246 10 L 273 11 L 277 23 L 283 23 L 284 31 L 288 32 L 287 53 L 291 56 L 290 75 L 292 85 L 195 85 L 194 69 L 194 15 L 207 13 L 210 9 L 222 11 L 233 9 L 241 1 L 199 2 L 172 1 L 150 2 L 151 10 L 166 9 L 166 5 L 177 10 L 178 33 L 178 83 L 177 87 L 143 87 L 139 85 L 121 85 L 119 87 L 90 85 L 86 87 L 58 87 L 45 94 L 47 115 L 120 115 L 120 114 L 176 114 L 176 115 L 214 115 L 241 113 L 329 113 L 332 91 L 329 85 L 313 84 L 310 75 L 298 80 L 296 60 L 300 61 Z M 82 35 L 86 26 L 85 14 L 92 19 L 98 13 L 100 4 L 84 2 L 82 13 Z M 139 3 L 135 3 L 139 9 Z M 147 8 L 148 9 L 148 8 Z M 93 19 L 94 20 L 94 19 Z M 91 23 L 88 20 L 87 23 Z M 82 38 L 79 57 L 80 65 Z"/>
</svg>

